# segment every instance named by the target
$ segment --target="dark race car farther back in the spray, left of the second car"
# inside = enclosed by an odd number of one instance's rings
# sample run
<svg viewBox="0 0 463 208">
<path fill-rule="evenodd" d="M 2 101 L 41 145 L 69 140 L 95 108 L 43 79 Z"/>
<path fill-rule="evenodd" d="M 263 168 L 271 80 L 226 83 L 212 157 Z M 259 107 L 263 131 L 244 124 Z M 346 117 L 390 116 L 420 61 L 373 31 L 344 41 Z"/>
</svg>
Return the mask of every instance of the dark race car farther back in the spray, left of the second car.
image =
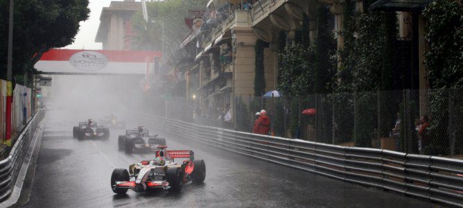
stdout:
<svg viewBox="0 0 463 208">
<path fill-rule="evenodd" d="M 78 126 L 74 126 L 73 137 L 78 139 L 109 139 L 110 129 L 98 126 L 96 122 L 89 119 L 88 121 L 79 122 Z"/>
</svg>

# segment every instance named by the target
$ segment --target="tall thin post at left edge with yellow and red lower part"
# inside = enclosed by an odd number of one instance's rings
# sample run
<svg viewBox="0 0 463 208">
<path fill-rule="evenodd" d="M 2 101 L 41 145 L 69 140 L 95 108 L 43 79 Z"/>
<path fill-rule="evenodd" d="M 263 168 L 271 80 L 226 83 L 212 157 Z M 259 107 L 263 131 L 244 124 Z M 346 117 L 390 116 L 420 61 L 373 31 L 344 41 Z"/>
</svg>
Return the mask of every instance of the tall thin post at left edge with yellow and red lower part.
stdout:
<svg viewBox="0 0 463 208">
<path fill-rule="evenodd" d="M 8 24 L 8 62 L 6 68 L 6 141 L 11 146 L 11 103 L 12 103 L 12 60 L 13 60 L 13 0 L 10 0 L 10 19 Z"/>
</svg>

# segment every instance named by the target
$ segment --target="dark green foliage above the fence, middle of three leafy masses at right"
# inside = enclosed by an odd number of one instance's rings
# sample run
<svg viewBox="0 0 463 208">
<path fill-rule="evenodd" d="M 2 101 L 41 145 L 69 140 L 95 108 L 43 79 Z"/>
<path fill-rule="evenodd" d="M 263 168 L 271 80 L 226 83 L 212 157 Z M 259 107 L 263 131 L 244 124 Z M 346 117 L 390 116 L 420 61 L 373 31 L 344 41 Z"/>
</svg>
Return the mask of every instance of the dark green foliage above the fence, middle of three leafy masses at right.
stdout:
<svg viewBox="0 0 463 208">
<path fill-rule="evenodd" d="M 342 66 L 335 83 L 338 92 L 388 90 L 394 74 L 394 48 L 397 34 L 395 12 L 356 12 L 347 1 L 344 49 L 339 51 Z M 368 1 L 366 2 L 369 3 Z"/>
</svg>

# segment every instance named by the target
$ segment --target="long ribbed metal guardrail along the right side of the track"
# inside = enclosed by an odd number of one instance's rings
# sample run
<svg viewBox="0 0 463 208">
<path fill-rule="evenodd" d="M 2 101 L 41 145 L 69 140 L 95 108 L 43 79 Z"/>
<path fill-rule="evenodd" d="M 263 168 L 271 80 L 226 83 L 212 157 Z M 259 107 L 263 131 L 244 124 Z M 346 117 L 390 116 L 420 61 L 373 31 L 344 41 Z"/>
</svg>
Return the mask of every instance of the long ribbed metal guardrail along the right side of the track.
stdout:
<svg viewBox="0 0 463 208">
<path fill-rule="evenodd" d="M 255 135 L 141 115 L 159 131 L 202 144 L 346 182 L 463 207 L 462 160 Z"/>
</svg>

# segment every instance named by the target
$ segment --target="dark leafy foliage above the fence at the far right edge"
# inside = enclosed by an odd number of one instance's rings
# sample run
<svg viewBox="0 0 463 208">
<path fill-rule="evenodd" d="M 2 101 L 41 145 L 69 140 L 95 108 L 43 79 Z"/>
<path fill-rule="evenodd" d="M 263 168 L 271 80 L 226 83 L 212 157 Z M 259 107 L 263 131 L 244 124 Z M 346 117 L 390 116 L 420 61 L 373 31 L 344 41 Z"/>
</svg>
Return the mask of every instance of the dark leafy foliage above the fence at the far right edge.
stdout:
<svg viewBox="0 0 463 208">
<path fill-rule="evenodd" d="M 433 1 L 423 11 L 426 19 L 426 51 L 431 87 L 463 85 L 463 5 L 462 1 Z"/>
</svg>

